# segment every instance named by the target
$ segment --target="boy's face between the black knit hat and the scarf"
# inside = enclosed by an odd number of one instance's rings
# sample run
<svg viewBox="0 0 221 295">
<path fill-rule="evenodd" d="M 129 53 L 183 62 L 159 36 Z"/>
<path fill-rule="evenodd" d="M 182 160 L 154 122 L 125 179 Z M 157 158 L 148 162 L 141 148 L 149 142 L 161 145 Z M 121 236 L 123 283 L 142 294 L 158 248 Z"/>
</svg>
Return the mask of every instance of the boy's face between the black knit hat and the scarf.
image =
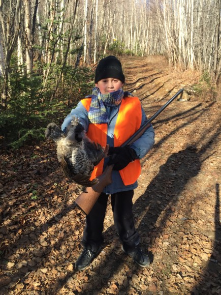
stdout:
<svg viewBox="0 0 221 295">
<path fill-rule="evenodd" d="M 122 88 L 124 83 L 116 78 L 106 78 L 98 81 L 95 85 L 100 89 L 101 94 L 109 94 Z"/>
</svg>

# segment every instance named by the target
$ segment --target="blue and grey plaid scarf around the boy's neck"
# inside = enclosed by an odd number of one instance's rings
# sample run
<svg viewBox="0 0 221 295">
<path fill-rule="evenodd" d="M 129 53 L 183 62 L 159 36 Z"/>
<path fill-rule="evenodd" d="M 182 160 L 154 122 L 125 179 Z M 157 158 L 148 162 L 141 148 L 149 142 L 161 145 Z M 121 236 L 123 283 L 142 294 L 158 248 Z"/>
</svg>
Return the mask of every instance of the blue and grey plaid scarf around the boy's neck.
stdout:
<svg viewBox="0 0 221 295">
<path fill-rule="evenodd" d="M 108 123 L 109 118 L 105 106 L 116 106 L 121 103 L 124 92 L 122 88 L 109 94 L 101 94 L 99 88 L 92 90 L 89 120 L 92 124 Z"/>
</svg>

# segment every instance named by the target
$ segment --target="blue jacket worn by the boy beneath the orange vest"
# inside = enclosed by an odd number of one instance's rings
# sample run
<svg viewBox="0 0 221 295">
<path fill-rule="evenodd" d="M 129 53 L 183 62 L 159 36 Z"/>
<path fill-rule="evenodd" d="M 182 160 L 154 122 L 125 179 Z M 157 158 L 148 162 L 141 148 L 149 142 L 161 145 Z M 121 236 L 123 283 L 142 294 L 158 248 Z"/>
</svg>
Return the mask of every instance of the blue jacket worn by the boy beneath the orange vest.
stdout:
<svg viewBox="0 0 221 295">
<path fill-rule="evenodd" d="M 114 107 L 108 107 L 106 106 L 106 110 L 109 117 L 109 123 L 108 123 L 108 133 L 107 133 L 107 144 L 110 146 L 114 146 L 114 127 L 117 119 L 117 114 L 119 110 L 119 106 Z M 141 125 L 143 125 L 147 121 L 146 114 L 141 106 L 142 109 L 142 122 Z M 85 107 L 82 105 L 81 102 L 78 103 L 77 107 L 75 109 L 72 109 L 71 113 L 65 118 L 64 123 L 61 125 L 62 131 L 65 132 L 67 126 L 71 123 L 72 116 L 77 116 L 81 124 L 84 127 L 84 130 L 88 130 L 89 126 L 89 120 L 88 120 L 88 112 L 85 109 Z M 137 139 L 133 144 L 131 144 L 131 147 L 136 151 L 137 157 L 139 159 L 143 158 L 151 149 L 152 145 L 154 144 L 154 130 L 153 127 L 149 127 L 142 136 Z M 108 158 L 105 158 L 104 162 L 104 169 L 107 166 Z M 112 184 L 108 185 L 104 189 L 104 193 L 106 194 L 113 194 L 120 191 L 128 191 L 133 190 L 137 188 L 137 181 L 129 186 L 125 186 L 121 180 L 120 174 L 118 171 L 113 170 L 112 172 Z"/>
</svg>

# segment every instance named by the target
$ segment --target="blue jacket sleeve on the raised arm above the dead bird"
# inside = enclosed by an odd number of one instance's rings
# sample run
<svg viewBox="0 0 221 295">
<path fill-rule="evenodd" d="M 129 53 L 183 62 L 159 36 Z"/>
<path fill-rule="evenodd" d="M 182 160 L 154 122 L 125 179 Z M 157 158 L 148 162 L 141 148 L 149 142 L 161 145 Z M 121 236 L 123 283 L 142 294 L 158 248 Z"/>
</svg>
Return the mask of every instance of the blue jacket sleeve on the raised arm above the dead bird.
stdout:
<svg viewBox="0 0 221 295">
<path fill-rule="evenodd" d="M 85 109 L 85 107 L 83 106 L 83 104 L 81 103 L 81 101 L 78 103 L 78 105 L 76 106 L 76 108 L 72 109 L 71 110 L 71 113 L 69 115 L 67 115 L 67 117 L 65 118 L 64 122 L 61 125 L 61 130 L 63 132 L 66 131 L 66 128 L 71 123 L 73 116 L 78 117 L 78 119 L 80 120 L 80 123 L 84 127 L 84 130 L 87 131 L 88 126 L 89 126 L 88 111 Z"/>
</svg>

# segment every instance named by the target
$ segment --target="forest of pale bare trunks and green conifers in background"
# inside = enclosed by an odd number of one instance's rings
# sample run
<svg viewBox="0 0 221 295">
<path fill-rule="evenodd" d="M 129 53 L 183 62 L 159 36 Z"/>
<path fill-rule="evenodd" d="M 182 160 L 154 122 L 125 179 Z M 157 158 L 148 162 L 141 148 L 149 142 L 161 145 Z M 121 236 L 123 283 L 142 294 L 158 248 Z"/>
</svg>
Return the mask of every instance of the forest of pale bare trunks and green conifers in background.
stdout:
<svg viewBox="0 0 221 295">
<path fill-rule="evenodd" d="M 43 138 L 107 54 L 163 55 L 219 84 L 220 11 L 220 0 L 0 0 L 1 143 Z"/>
</svg>

